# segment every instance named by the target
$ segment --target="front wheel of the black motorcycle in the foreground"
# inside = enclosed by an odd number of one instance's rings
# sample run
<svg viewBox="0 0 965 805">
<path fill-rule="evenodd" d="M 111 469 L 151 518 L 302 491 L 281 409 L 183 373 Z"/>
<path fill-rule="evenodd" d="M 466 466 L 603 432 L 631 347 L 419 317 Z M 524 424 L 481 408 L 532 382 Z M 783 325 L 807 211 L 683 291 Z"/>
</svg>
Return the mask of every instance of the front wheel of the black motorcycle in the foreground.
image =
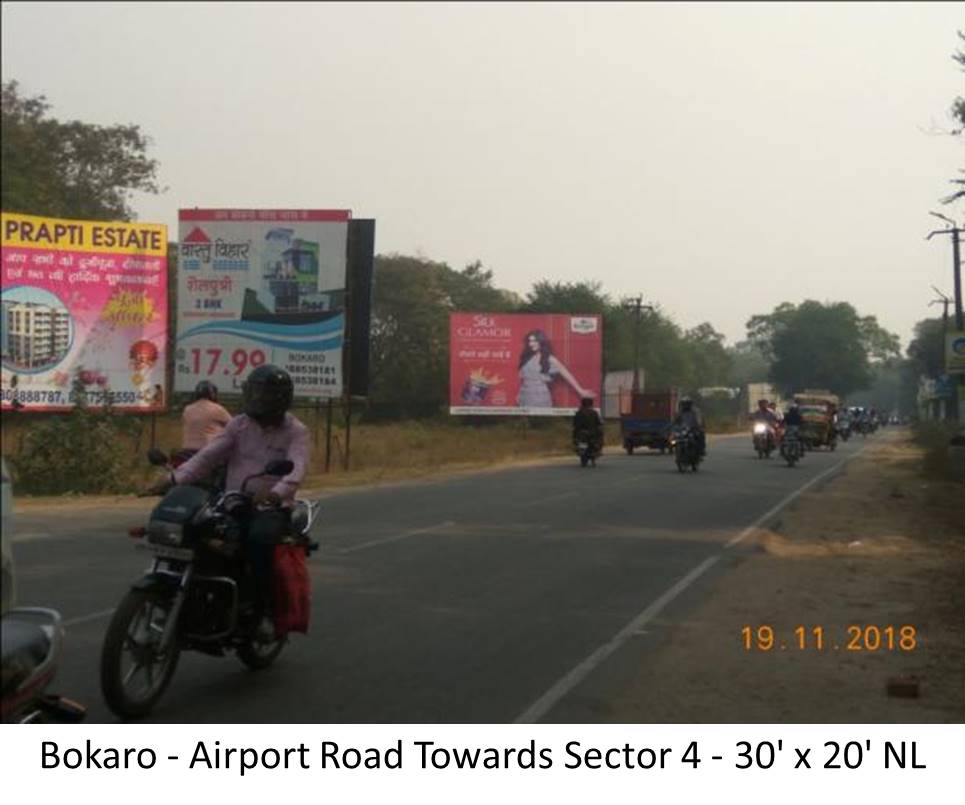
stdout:
<svg viewBox="0 0 965 805">
<path fill-rule="evenodd" d="M 147 715 L 161 698 L 180 649 L 160 650 L 170 602 L 151 590 L 131 590 L 114 612 L 101 650 L 101 692 L 122 718 Z"/>
</svg>

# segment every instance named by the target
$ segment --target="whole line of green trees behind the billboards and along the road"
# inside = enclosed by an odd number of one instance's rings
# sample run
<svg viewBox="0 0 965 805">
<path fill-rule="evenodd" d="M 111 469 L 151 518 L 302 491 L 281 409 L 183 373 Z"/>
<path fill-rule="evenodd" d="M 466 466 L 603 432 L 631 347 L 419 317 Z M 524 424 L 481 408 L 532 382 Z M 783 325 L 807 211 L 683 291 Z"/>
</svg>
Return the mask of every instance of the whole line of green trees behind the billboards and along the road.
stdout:
<svg viewBox="0 0 965 805">
<path fill-rule="evenodd" d="M 138 126 L 59 121 L 43 96 L 24 97 L 15 81 L 2 85 L 0 135 L 5 210 L 131 220 L 132 193 L 159 190 L 159 166 Z M 172 300 L 176 265 L 172 253 Z M 520 295 L 497 287 L 492 269 L 479 262 L 456 269 L 423 257 L 378 255 L 369 416 L 427 417 L 446 410 L 453 311 L 600 314 L 605 369 L 633 368 L 635 314 L 598 281 L 547 278 Z M 639 363 L 648 388 L 693 392 L 770 380 L 785 394 L 805 387 L 844 396 L 887 393 L 911 410 L 907 403 L 917 374 L 933 375 L 941 360 L 935 321 L 919 322 L 902 357 L 897 336 L 848 302 L 783 303 L 752 316 L 747 338 L 732 346 L 710 322 L 683 328 L 657 304 L 639 323 Z M 169 324 L 173 333 L 173 315 Z"/>
</svg>

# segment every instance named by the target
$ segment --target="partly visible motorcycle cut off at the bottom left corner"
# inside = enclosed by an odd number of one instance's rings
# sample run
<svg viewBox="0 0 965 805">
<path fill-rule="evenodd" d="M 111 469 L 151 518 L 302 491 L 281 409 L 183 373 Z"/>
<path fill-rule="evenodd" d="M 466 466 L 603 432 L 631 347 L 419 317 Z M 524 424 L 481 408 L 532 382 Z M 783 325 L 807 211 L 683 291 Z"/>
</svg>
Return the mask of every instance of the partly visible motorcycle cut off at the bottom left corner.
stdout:
<svg viewBox="0 0 965 805">
<path fill-rule="evenodd" d="M 0 622 L 5 724 L 75 724 L 87 709 L 71 699 L 47 693 L 64 653 L 64 627 L 52 609 L 19 607 Z"/>
</svg>

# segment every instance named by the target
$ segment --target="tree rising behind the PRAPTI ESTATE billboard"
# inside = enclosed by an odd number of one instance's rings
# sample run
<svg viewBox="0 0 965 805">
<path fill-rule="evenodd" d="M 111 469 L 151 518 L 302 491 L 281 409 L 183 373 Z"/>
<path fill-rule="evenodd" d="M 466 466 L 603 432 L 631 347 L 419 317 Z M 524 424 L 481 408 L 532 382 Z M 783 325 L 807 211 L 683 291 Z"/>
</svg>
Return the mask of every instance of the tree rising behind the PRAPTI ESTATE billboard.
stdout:
<svg viewBox="0 0 965 805">
<path fill-rule="evenodd" d="M 98 126 L 48 116 L 43 95 L 2 85 L 2 206 L 33 215 L 132 220 L 130 194 L 159 192 L 158 164 L 138 126 Z"/>
</svg>

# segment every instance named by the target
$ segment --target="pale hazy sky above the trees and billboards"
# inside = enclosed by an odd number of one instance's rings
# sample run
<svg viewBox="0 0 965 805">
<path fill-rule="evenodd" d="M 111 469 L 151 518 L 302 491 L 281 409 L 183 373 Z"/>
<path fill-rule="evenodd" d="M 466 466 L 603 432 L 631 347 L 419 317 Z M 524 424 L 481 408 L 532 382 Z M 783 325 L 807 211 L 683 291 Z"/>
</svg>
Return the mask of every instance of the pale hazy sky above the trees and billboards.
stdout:
<svg viewBox="0 0 965 805">
<path fill-rule="evenodd" d="M 965 5 L 3 3 L 2 73 L 137 123 L 179 207 L 334 207 L 496 284 L 596 279 L 731 341 L 843 299 L 903 342 L 965 141 Z M 176 231 L 174 229 L 173 231 Z M 172 235 L 173 236 L 173 235 Z"/>
</svg>

